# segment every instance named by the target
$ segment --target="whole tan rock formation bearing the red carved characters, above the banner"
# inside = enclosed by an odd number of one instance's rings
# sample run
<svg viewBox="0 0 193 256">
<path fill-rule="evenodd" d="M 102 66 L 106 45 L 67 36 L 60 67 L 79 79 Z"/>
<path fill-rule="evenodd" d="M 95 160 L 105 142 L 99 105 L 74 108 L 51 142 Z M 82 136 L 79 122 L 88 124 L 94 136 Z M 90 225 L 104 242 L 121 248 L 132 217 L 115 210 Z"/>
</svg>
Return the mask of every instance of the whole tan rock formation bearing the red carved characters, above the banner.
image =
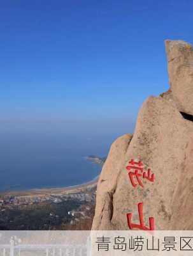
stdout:
<svg viewBox="0 0 193 256">
<path fill-rule="evenodd" d="M 193 228 L 193 48 L 167 40 L 166 52 L 169 91 L 149 97 L 133 136 L 111 145 L 92 230 Z"/>
</svg>

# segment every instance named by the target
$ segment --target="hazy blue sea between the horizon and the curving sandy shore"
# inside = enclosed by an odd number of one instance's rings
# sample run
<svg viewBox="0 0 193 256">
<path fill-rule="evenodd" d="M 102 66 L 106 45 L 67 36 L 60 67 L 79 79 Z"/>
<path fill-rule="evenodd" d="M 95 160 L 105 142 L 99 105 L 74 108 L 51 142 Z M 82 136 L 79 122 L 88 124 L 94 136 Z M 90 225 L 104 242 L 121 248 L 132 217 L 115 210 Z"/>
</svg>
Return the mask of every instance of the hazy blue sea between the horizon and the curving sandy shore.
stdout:
<svg viewBox="0 0 193 256">
<path fill-rule="evenodd" d="M 1 123 L 0 191 L 89 182 L 101 173 L 101 166 L 86 157 L 107 156 L 116 136 L 96 132 L 94 127 L 83 129 L 83 125 Z"/>
</svg>

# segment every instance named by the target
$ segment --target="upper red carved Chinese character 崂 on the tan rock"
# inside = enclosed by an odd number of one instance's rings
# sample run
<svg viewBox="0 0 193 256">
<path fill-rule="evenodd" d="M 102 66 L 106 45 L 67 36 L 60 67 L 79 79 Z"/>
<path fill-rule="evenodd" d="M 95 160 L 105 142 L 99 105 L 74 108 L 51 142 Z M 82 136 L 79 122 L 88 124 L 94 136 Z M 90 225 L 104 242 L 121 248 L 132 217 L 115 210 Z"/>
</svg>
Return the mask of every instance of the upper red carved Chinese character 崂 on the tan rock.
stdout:
<svg viewBox="0 0 193 256">
<path fill-rule="evenodd" d="M 128 165 L 126 168 L 129 171 L 129 179 L 131 180 L 131 184 L 134 188 L 136 188 L 138 184 L 143 188 L 143 182 L 141 181 L 142 178 L 147 179 L 150 182 L 154 182 L 155 175 L 151 174 L 150 169 L 148 169 L 146 173 L 146 171 L 143 169 L 143 162 L 136 162 L 134 161 L 134 159 L 131 159 L 131 161 L 129 161 L 129 164 L 130 165 Z M 131 172 L 131 170 L 134 170 L 134 172 Z M 134 177 L 136 177 L 138 184 L 134 182 Z"/>
</svg>

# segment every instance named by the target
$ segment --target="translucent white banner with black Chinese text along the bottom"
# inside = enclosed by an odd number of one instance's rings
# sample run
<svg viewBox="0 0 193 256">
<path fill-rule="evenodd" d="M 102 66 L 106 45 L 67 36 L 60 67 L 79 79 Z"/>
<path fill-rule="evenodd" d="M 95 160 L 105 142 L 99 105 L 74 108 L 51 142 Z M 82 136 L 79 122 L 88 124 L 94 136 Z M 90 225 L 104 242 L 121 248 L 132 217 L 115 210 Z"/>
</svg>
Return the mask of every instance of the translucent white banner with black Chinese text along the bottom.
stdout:
<svg viewBox="0 0 193 256">
<path fill-rule="evenodd" d="M 0 255 L 193 255 L 193 231 L 0 231 Z"/>
</svg>

